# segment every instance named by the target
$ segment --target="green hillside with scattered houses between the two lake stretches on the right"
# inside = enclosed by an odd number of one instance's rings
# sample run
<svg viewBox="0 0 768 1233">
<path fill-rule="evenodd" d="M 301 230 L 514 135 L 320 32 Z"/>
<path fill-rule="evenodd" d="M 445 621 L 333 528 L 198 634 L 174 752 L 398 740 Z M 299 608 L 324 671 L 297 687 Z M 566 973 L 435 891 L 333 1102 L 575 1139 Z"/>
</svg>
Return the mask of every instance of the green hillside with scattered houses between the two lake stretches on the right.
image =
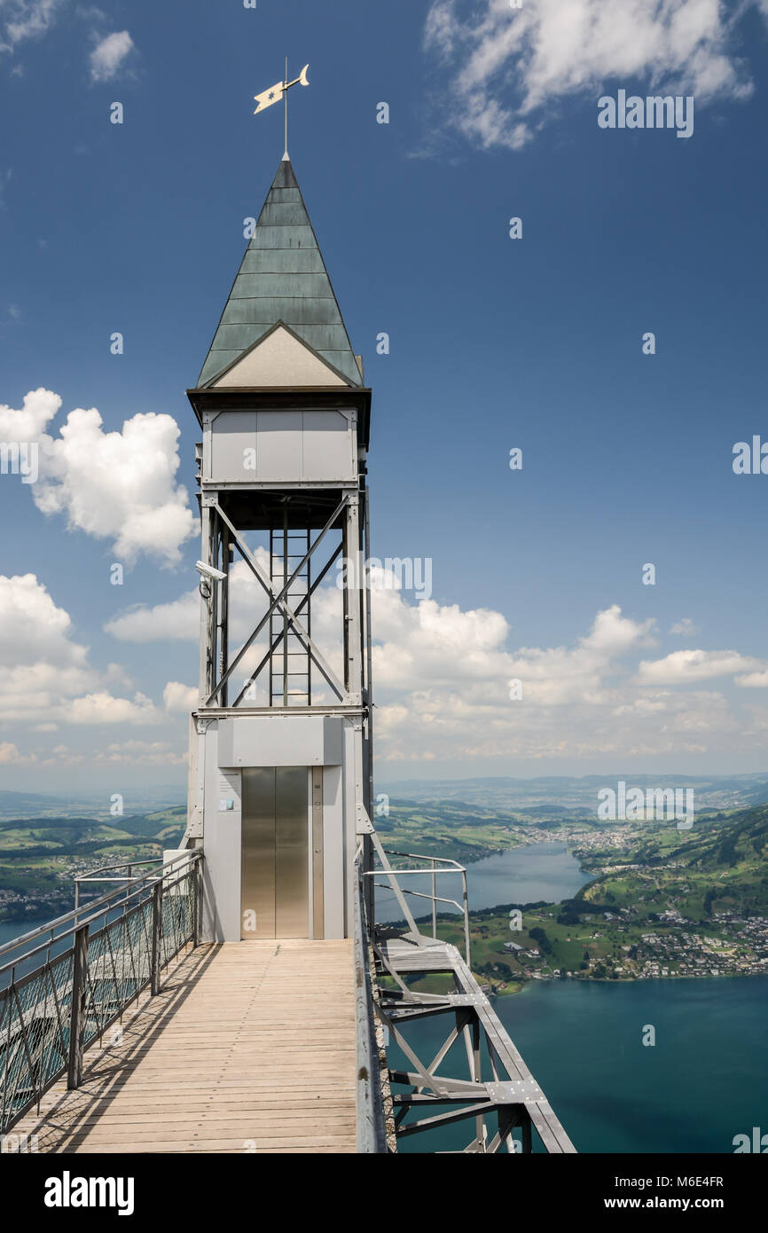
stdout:
<svg viewBox="0 0 768 1233">
<path fill-rule="evenodd" d="M 690 831 L 627 829 L 623 850 L 574 852 L 597 877 L 573 899 L 472 914 L 472 968 L 502 993 L 529 979 L 625 980 L 768 973 L 768 806 Z M 521 928 L 510 911 L 521 909 Z M 514 920 L 512 921 L 513 924 Z M 441 936 L 464 949 L 457 919 Z"/>
</svg>

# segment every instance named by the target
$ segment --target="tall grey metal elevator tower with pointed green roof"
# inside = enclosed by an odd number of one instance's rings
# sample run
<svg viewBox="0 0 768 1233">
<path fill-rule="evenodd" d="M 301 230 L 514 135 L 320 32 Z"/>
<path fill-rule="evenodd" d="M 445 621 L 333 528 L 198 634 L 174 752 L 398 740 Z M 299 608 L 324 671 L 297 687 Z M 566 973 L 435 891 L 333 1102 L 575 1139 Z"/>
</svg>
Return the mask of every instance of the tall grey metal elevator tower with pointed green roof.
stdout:
<svg viewBox="0 0 768 1233">
<path fill-rule="evenodd" d="M 187 845 L 203 937 L 348 937 L 371 827 L 371 391 L 285 157 L 189 398 L 202 550 Z"/>
</svg>

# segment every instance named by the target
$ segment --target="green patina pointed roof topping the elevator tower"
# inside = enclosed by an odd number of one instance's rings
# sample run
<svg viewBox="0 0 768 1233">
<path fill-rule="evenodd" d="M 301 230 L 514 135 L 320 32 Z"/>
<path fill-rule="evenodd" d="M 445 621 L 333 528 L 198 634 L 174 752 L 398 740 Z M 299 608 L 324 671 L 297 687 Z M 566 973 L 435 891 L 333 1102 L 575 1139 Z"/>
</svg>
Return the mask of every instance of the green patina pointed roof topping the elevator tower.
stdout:
<svg viewBox="0 0 768 1233">
<path fill-rule="evenodd" d="M 245 249 L 197 386 L 229 367 L 279 321 L 360 386 L 360 370 L 293 168 L 284 159 Z"/>
</svg>

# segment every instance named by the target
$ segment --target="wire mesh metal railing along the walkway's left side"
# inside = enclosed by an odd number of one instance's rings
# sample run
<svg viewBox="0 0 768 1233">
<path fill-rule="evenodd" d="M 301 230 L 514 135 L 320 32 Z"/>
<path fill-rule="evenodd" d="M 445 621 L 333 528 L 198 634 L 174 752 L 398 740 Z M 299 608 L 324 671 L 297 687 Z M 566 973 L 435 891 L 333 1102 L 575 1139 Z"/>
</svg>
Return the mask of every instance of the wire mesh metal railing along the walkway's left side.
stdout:
<svg viewBox="0 0 768 1233">
<path fill-rule="evenodd" d="M 120 888 L 0 947 L 0 1136 L 62 1075 L 78 1088 L 89 1044 L 197 944 L 201 875 L 194 848 L 139 877 L 105 878 Z"/>
</svg>

